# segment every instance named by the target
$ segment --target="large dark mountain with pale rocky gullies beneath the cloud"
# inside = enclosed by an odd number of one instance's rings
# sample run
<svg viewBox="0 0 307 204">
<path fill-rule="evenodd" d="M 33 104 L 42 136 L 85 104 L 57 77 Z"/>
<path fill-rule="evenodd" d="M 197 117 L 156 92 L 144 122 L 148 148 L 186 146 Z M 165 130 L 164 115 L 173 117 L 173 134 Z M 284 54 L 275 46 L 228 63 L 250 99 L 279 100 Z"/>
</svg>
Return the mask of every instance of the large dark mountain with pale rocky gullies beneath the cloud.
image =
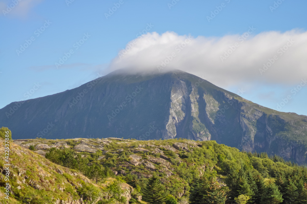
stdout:
<svg viewBox="0 0 307 204">
<path fill-rule="evenodd" d="M 307 116 L 262 107 L 179 70 L 117 70 L 78 88 L 0 109 L 13 139 L 216 140 L 306 163 Z"/>
</svg>

